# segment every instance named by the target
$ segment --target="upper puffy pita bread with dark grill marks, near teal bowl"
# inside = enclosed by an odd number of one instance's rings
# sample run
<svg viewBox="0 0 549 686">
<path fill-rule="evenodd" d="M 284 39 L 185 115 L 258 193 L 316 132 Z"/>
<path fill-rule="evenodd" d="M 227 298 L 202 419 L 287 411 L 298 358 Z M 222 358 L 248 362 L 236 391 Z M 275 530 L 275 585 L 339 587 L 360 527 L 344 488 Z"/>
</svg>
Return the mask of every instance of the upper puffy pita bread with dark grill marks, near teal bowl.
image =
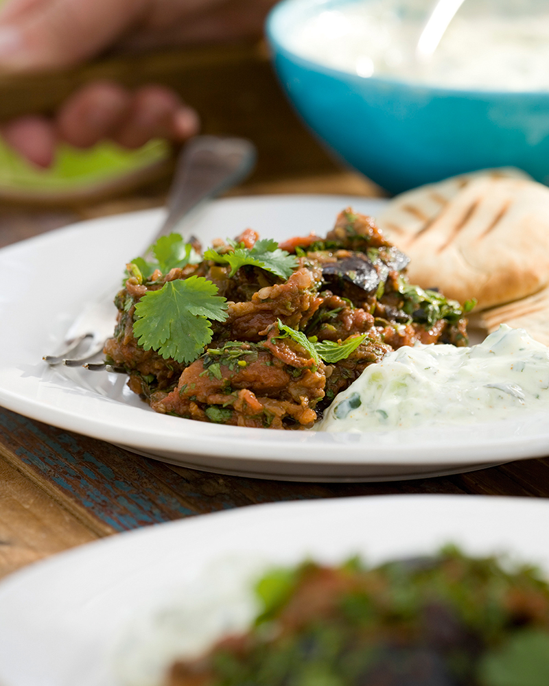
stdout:
<svg viewBox="0 0 549 686">
<path fill-rule="evenodd" d="M 487 309 L 549 284 L 549 189 L 509 170 L 404 193 L 379 217 L 408 277 Z"/>
</svg>

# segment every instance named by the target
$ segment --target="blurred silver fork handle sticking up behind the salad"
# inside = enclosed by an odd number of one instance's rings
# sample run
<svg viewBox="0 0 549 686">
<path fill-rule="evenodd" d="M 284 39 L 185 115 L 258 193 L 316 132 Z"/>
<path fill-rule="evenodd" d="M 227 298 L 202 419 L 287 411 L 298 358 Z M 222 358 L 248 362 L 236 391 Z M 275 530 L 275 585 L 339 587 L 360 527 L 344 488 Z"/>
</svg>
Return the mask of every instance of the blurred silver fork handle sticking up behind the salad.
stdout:
<svg viewBox="0 0 549 686">
<path fill-rule="evenodd" d="M 203 200 L 246 178 L 255 165 L 255 145 L 241 138 L 197 136 L 180 155 L 167 199 L 167 217 L 154 241 L 176 229 Z"/>
</svg>

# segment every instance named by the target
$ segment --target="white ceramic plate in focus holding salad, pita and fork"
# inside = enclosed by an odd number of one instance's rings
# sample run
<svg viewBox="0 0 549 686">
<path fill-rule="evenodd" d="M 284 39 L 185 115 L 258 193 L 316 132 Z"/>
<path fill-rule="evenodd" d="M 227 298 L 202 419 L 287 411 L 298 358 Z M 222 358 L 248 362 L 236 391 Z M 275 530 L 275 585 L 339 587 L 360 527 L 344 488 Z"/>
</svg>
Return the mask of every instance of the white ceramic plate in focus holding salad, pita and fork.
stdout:
<svg viewBox="0 0 549 686">
<path fill-rule="evenodd" d="M 192 231 L 203 244 L 248 226 L 277 239 L 323 235 L 345 206 L 375 215 L 382 204 L 343 196 L 231 198 L 195 216 Z M 549 452 L 548 414 L 362 435 L 244 429 L 156 414 L 121 375 L 49 368 L 42 356 L 55 350 L 82 307 L 111 285 L 114 294 L 126 261 L 148 246 L 161 216 L 82 222 L 0 251 L 2 405 L 174 464 L 274 479 L 406 479 Z"/>
</svg>

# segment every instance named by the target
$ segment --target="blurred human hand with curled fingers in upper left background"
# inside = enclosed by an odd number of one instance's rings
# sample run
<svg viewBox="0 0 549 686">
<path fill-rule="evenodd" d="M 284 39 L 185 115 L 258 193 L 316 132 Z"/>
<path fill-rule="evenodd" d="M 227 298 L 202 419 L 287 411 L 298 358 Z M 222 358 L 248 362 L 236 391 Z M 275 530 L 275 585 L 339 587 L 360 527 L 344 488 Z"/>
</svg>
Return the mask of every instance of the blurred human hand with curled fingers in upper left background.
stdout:
<svg viewBox="0 0 549 686">
<path fill-rule="evenodd" d="M 273 0 L 10 0 L 0 12 L 0 69 L 69 67 L 108 47 L 136 51 L 258 35 Z M 57 141 L 90 147 L 112 139 L 139 147 L 153 137 L 184 141 L 198 115 L 174 93 L 145 86 L 134 93 L 109 82 L 84 86 L 52 118 L 19 117 L 4 139 L 47 167 Z"/>
</svg>

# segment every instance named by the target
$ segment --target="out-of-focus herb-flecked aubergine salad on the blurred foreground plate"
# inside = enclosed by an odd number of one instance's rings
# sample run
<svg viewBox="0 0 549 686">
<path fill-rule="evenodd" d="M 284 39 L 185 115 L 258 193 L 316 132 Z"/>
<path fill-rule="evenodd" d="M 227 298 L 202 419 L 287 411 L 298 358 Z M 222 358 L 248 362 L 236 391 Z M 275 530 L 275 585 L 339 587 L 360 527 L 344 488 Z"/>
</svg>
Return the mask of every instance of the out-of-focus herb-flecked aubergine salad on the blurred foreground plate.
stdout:
<svg viewBox="0 0 549 686">
<path fill-rule="evenodd" d="M 249 630 L 177 661 L 166 686 L 549 683 L 549 585 L 531 567 L 446 547 L 375 568 L 274 569 L 257 593 Z"/>
</svg>

